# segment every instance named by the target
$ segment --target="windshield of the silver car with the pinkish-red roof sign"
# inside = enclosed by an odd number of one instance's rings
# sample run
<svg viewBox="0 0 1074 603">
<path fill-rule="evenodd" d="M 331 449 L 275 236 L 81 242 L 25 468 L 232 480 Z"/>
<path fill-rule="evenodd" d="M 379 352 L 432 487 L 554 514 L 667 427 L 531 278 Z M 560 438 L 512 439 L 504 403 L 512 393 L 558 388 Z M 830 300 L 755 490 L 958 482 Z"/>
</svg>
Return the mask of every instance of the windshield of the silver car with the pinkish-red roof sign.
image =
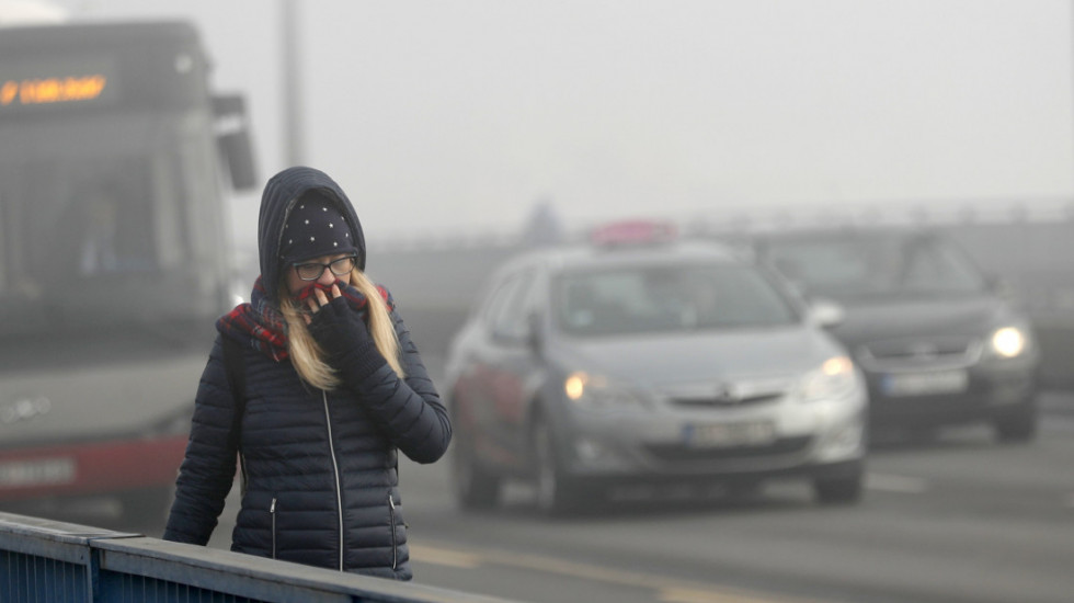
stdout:
<svg viewBox="0 0 1074 603">
<path fill-rule="evenodd" d="M 753 266 L 660 265 L 564 273 L 553 286 L 559 328 L 617 335 L 790 325 L 798 316 Z"/>
</svg>

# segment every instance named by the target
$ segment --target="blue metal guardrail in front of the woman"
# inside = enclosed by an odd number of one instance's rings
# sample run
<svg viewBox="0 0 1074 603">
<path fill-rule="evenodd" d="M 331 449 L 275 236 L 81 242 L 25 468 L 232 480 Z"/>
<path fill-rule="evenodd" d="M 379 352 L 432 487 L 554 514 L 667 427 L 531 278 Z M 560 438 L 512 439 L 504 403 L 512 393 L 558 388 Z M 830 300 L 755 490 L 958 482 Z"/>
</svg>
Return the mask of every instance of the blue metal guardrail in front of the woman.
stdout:
<svg viewBox="0 0 1074 603">
<path fill-rule="evenodd" d="M 13 513 L 0 513 L 0 602 L 506 603 Z"/>
</svg>

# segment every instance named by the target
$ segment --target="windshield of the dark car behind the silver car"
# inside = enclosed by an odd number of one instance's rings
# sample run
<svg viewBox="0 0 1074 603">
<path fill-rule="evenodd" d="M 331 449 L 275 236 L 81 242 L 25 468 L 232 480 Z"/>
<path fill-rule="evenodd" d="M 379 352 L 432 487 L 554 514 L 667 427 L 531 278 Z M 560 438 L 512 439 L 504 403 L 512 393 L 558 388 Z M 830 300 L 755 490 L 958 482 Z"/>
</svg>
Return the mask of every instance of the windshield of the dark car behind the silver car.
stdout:
<svg viewBox="0 0 1074 603">
<path fill-rule="evenodd" d="M 773 265 L 814 295 L 839 298 L 976 293 L 984 278 L 934 237 L 873 236 L 772 241 Z"/>
</svg>

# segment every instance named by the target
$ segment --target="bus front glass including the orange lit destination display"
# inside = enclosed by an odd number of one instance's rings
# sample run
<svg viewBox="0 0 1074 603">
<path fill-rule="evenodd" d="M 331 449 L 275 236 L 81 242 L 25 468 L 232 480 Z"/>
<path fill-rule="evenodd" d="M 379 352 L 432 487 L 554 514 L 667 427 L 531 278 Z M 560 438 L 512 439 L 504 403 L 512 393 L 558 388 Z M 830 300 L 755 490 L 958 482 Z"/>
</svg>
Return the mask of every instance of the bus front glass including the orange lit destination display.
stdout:
<svg viewBox="0 0 1074 603">
<path fill-rule="evenodd" d="M 193 30 L 13 29 L 0 50 L 0 337 L 218 316 L 231 266 Z"/>
</svg>

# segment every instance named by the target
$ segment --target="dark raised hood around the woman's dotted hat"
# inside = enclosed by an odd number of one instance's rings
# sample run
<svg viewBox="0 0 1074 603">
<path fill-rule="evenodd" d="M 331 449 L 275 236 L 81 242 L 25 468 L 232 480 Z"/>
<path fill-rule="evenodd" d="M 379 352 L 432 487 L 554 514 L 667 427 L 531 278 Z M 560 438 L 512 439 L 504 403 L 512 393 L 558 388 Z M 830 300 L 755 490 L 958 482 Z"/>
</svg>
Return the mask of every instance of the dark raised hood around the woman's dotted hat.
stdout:
<svg viewBox="0 0 1074 603">
<path fill-rule="evenodd" d="M 258 251 L 261 255 L 261 275 L 268 299 L 275 303 L 279 285 L 279 247 L 284 224 L 295 201 L 306 191 L 319 190 L 339 206 L 340 212 L 353 225 L 354 246 L 358 249 L 358 269 L 365 270 L 365 236 L 362 223 L 343 189 L 327 173 L 306 167 L 287 168 L 268 179 L 261 195 L 261 214 L 258 217 Z"/>
</svg>

